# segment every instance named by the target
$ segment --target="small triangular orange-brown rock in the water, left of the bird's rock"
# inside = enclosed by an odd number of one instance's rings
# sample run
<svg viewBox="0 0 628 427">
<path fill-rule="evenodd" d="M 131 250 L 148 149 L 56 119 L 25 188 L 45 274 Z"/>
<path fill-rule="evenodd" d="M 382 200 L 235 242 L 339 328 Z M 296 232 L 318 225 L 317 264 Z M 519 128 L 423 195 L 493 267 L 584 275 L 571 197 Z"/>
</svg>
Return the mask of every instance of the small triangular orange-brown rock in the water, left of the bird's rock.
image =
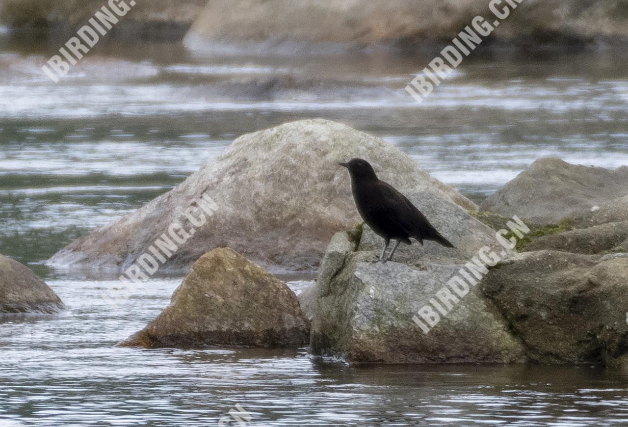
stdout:
<svg viewBox="0 0 628 427">
<path fill-rule="evenodd" d="M 170 306 L 124 347 L 307 345 L 310 323 L 295 293 L 232 249 L 215 249 L 195 262 Z"/>
</svg>

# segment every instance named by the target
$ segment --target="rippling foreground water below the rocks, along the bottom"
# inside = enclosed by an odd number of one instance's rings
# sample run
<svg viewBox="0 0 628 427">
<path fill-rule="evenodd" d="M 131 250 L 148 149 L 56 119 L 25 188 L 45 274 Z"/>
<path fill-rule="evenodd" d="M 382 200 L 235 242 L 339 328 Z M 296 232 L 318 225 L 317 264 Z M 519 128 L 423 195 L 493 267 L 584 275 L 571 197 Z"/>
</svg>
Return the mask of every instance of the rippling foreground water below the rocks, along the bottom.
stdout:
<svg viewBox="0 0 628 427">
<path fill-rule="evenodd" d="M 117 348 L 179 279 L 153 280 L 117 308 L 101 298 L 114 282 L 48 283 L 67 312 L 0 323 L 0 426 L 212 426 L 236 404 L 251 426 L 628 424 L 628 377 L 598 367 L 349 367 L 305 349 Z"/>
</svg>

